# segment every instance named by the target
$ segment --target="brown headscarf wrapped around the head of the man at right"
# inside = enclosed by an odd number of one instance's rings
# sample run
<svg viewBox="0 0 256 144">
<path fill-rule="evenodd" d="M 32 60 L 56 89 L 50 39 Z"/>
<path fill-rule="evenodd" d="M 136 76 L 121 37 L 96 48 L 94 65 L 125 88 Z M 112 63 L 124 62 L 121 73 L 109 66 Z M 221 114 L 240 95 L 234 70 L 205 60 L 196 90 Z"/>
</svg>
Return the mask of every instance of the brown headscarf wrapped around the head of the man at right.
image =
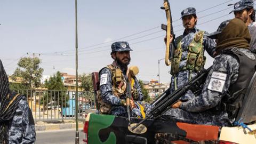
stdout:
<svg viewBox="0 0 256 144">
<path fill-rule="evenodd" d="M 221 31 L 216 47 L 217 54 L 230 47 L 250 49 L 250 41 L 248 27 L 242 20 L 235 18 Z"/>
</svg>

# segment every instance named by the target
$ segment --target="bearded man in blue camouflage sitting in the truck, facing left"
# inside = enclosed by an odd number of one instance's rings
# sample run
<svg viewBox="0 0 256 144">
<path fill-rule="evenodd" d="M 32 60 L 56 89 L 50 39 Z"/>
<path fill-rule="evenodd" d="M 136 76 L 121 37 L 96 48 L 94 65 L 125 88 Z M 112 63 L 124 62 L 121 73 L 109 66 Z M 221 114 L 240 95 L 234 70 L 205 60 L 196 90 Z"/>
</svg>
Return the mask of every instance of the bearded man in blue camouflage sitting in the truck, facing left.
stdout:
<svg viewBox="0 0 256 144">
<path fill-rule="evenodd" d="M 100 94 L 97 95 L 97 100 L 100 105 L 100 113 L 127 116 L 125 94 L 127 81 L 129 81 L 132 87 L 132 114 L 141 116 L 143 110 L 140 110 L 140 106 L 146 107 L 148 104 L 139 102 L 143 100 L 143 95 L 135 75 L 128 78 L 131 70 L 127 66 L 131 60 L 130 51 L 132 49 L 127 42 L 115 42 L 111 45 L 111 50 L 113 63 L 99 72 Z"/>
</svg>

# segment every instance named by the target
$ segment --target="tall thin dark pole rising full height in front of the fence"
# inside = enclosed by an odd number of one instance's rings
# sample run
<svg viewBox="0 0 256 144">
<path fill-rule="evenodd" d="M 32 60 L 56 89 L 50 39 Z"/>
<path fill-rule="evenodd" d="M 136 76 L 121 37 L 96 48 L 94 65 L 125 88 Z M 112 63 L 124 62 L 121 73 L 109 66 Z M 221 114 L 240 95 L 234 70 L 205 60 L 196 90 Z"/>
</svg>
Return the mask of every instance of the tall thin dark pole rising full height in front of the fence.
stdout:
<svg viewBox="0 0 256 144">
<path fill-rule="evenodd" d="M 75 97 L 75 105 L 76 105 L 76 139 L 75 143 L 79 144 L 79 132 L 78 132 L 78 40 L 77 40 L 77 0 L 75 0 L 76 7 L 76 97 Z"/>
</svg>

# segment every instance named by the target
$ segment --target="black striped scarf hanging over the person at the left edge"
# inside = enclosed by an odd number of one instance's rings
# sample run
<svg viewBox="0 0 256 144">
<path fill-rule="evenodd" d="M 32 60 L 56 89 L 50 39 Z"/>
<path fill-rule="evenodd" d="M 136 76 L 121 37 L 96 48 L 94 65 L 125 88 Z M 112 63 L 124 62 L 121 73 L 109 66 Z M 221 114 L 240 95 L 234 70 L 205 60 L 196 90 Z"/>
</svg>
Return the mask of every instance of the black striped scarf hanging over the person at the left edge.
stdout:
<svg viewBox="0 0 256 144">
<path fill-rule="evenodd" d="M 22 95 L 10 91 L 8 77 L 0 60 L 0 141 L 8 143 L 8 126 L 22 98 Z"/>
</svg>

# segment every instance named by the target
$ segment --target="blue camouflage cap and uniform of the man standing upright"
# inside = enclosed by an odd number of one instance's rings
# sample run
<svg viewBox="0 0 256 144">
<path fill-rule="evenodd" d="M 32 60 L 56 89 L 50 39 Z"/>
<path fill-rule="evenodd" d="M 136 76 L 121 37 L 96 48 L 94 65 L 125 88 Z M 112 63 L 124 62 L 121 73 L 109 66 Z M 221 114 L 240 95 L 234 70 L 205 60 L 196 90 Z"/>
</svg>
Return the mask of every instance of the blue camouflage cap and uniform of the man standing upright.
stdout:
<svg viewBox="0 0 256 144">
<path fill-rule="evenodd" d="M 191 14 L 196 14 L 196 10 L 193 7 L 189 7 L 181 12 L 182 17 L 185 17 L 186 15 L 191 15 Z M 178 41 L 179 41 L 178 39 L 182 38 L 180 40 L 182 54 L 181 54 L 181 60 L 179 63 L 179 69 L 183 69 L 184 67 L 186 67 L 189 44 L 193 41 L 195 35 L 198 32 L 199 32 L 199 29 L 194 27 L 192 30 L 189 31 L 189 33 L 187 33 L 187 31 L 185 30 L 183 35 L 175 38 L 175 45 L 178 45 Z M 207 53 L 209 53 L 209 55 L 211 55 L 211 57 L 214 57 L 215 42 L 213 41 L 213 39 L 207 37 L 206 36 L 207 34 L 208 33 L 206 31 L 204 31 L 203 51 L 206 50 Z M 181 70 L 181 71 L 179 71 L 179 73 L 172 75 L 171 84 L 170 84 L 171 93 L 173 91 L 175 91 L 175 79 L 177 81 L 176 86 L 178 89 L 178 87 L 181 87 L 184 84 L 186 84 L 189 81 L 189 79 L 195 77 L 197 74 L 198 74 L 198 71 Z M 189 99 L 189 93 L 191 93 L 191 91 L 188 91 L 186 96 L 183 97 L 182 99 Z"/>
</svg>

